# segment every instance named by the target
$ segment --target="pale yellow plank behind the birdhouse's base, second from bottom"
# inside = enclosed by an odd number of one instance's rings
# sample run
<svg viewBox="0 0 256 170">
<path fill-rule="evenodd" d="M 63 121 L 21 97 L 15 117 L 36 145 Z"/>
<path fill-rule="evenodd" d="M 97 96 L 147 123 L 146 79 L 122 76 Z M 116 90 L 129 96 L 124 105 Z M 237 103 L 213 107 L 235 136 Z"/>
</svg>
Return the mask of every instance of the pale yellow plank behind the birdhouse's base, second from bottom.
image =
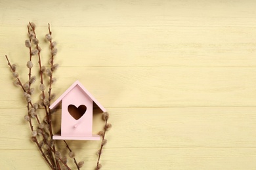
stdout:
<svg viewBox="0 0 256 170">
<path fill-rule="evenodd" d="M 107 148 L 256 147 L 256 108 L 110 108 L 108 111 L 113 128 L 107 133 L 110 141 Z M 30 128 L 23 121 L 26 109 L 0 109 L 0 112 L 0 150 L 34 149 Z M 97 133 L 104 125 L 101 114 L 95 114 L 93 120 L 93 133 Z M 60 110 L 53 115 L 53 127 L 55 133 L 60 130 Z M 70 141 L 70 147 L 76 149 L 96 149 L 99 144 Z M 65 148 L 62 141 L 58 145 Z"/>
</svg>

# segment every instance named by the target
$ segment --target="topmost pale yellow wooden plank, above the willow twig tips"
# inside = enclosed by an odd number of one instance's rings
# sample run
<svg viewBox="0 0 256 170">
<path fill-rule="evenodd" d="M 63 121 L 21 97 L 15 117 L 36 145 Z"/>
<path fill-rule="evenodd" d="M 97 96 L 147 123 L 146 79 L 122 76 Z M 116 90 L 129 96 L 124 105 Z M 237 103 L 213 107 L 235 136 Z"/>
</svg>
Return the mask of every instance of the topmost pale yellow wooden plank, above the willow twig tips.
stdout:
<svg viewBox="0 0 256 170">
<path fill-rule="evenodd" d="M 226 25 L 255 27 L 255 1 L 1 1 L 2 25 L 51 22 L 62 27 L 128 27 L 134 25 Z M 55 12 L 58 11 L 58 15 Z M 16 16 L 20 16 L 19 20 Z M 60 17 L 61 16 L 61 17 Z M 66 21 L 64 22 L 63 18 Z"/>
</svg>

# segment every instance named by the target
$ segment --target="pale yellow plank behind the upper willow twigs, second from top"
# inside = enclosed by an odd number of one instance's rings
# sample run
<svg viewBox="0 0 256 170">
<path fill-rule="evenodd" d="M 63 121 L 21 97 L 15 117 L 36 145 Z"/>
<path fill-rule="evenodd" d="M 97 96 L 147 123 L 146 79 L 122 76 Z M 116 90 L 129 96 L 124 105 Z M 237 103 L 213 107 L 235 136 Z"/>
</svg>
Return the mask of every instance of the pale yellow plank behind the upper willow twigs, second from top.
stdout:
<svg viewBox="0 0 256 170">
<path fill-rule="evenodd" d="M 0 29 L 0 53 L 22 66 L 26 24 Z M 47 22 L 37 37 L 47 63 Z M 56 61 L 64 67 L 255 67 L 255 29 L 249 27 L 52 27 Z M 74 34 L 75 32 L 75 34 Z M 163 39 L 164 37 L 164 39 Z M 13 41 L 15 39 L 16 41 Z M 15 50 L 14 50 L 15 49 Z M 47 58 L 47 59 L 45 59 Z M 6 65 L 0 62 L 0 67 Z"/>
</svg>

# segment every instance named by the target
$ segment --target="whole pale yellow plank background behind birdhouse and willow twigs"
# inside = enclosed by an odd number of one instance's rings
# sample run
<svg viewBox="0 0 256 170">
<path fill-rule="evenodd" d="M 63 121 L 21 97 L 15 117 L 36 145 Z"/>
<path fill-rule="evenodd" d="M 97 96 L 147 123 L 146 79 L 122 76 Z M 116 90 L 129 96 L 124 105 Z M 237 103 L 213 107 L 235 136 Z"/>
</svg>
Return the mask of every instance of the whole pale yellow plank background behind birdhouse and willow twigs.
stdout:
<svg viewBox="0 0 256 170">
<path fill-rule="evenodd" d="M 48 169 L 23 121 L 26 24 L 47 63 L 58 42 L 58 96 L 75 80 L 108 109 L 104 169 L 256 169 L 256 1 L 0 1 L 0 169 Z M 54 114 L 55 129 L 60 112 Z M 94 131 L 102 128 L 95 116 Z M 63 143 L 60 147 L 64 147 Z M 73 141 L 83 169 L 97 142 Z"/>
</svg>

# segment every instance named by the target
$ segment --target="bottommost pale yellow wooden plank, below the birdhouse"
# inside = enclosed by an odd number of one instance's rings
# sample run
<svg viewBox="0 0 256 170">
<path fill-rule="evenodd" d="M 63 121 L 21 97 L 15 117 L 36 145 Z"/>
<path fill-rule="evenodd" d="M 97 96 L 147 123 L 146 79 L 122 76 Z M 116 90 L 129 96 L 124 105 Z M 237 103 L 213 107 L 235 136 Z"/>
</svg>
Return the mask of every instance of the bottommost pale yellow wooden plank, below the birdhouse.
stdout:
<svg viewBox="0 0 256 170">
<path fill-rule="evenodd" d="M 16 159 L 17 152 L 22 152 Z M 105 149 L 102 169 L 255 169 L 255 148 L 133 148 Z M 3 150 L 3 169 L 47 169 L 36 150 Z M 95 150 L 77 156 L 82 169 L 94 169 Z M 14 160 L 15 159 L 15 160 Z M 72 160 L 69 161 L 69 163 Z M 14 163 L 13 163 L 14 162 Z M 70 163 L 71 164 L 71 163 Z"/>
</svg>

